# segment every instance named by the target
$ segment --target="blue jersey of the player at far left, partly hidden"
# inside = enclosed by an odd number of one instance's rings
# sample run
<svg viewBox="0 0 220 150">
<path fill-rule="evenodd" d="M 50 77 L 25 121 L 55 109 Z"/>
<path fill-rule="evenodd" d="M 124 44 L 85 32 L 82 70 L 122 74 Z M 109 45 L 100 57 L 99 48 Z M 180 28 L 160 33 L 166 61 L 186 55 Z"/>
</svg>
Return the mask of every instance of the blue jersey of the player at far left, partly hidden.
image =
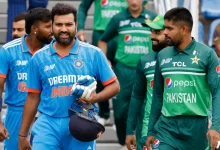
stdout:
<svg viewBox="0 0 220 150">
<path fill-rule="evenodd" d="M 27 96 L 28 62 L 32 54 L 25 42 L 26 36 L 8 42 L 0 49 L 0 77 L 6 78 L 4 103 L 10 106 L 23 106 Z"/>
</svg>

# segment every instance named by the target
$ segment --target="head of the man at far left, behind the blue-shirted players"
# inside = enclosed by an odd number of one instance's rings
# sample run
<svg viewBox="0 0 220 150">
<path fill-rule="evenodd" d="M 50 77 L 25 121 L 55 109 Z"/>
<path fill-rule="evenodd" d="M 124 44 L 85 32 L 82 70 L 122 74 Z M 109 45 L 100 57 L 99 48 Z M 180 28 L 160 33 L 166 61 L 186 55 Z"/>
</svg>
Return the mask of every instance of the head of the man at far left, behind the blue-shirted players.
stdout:
<svg viewBox="0 0 220 150">
<path fill-rule="evenodd" d="M 25 17 L 27 13 L 21 13 L 15 16 L 12 23 L 12 38 L 17 39 L 22 37 L 25 32 Z"/>
</svg>

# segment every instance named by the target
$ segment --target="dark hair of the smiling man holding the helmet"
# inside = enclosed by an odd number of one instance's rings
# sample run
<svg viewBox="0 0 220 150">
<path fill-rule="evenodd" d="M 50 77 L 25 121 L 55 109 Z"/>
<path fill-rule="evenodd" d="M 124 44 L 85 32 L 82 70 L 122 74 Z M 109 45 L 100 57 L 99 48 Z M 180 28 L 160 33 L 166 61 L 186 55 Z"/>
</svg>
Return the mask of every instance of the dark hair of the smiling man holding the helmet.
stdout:
<svg viewBox="0 0 220 150">
<path fill-rule="evenodd" d="M 68 14 L 73 14 L 74 21 L 77 22 L 77 10 L 75 7 L 68 4 L 57 3 L 51 11 L 52 22 L 54 21 L 54 16 Z"/>
</svg>

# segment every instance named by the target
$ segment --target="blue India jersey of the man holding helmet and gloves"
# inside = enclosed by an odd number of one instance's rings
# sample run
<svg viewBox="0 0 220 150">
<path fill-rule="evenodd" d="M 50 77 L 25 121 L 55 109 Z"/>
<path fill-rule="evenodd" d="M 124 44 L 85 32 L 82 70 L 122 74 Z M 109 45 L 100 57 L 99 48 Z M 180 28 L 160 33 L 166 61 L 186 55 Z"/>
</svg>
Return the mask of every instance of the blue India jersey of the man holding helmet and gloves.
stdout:
<svg viewBox="0 0 220 150">
<path fill-rule="evenodd" d="M 116 76 L 99 48 L 75 38 L 69 55 L 60 57 L 53 48 L 54 42 L 35 53 L 30 61 L 27 90 L 40 93 L 39 112 L 52 117 L 68 117 L 68 109 L 76 100 L 70 90 L 80 76 L 90 75 L 103 85 L 115 81 Z"/>
</svg>

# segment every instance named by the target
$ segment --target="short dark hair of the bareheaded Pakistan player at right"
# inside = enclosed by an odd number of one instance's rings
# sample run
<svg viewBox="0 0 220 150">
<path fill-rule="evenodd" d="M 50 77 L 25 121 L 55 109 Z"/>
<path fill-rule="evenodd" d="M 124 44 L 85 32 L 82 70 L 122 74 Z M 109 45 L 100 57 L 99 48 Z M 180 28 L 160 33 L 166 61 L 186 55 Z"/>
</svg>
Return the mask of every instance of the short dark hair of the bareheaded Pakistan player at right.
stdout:
<svg viewBox="0 0 220 150">
<path fill-rule="evenodd" d="M 166 12 L 164 20 L 173 21 L 173 23 L 182 23 L 188 26 L 189 31 L 192 31 L 193 18 L 190 11 L 184 7 L 176 7 Z"/>
</svg>

